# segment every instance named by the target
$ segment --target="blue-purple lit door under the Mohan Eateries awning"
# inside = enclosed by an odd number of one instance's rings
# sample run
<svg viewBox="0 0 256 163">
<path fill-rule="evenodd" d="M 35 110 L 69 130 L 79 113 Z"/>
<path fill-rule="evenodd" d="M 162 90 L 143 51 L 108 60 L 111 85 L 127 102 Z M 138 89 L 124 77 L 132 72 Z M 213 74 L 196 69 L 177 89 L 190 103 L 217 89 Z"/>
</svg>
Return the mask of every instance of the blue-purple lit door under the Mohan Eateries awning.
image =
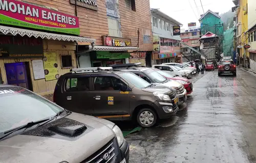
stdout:
<svg viewBox="0 0 256 163">
<path fill-rule="evenodd" d="M 29 68 L 26 69 L 25 62 L 19 63 L 6 63 L 5 64 L 6 77 L 8 85 L 20 86 L 26 89 L 30 89 L 28 74 Z"/>
</svg>

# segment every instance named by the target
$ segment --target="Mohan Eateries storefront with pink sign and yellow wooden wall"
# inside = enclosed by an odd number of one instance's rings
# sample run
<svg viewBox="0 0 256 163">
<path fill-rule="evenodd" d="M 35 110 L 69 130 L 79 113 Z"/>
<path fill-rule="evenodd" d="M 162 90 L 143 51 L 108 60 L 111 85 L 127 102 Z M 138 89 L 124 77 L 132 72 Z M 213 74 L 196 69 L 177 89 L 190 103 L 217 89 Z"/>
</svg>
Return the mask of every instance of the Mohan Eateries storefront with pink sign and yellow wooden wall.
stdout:
<svg viewBox="0 0 256 163">
<path fill-rule="evenodd" d="M 58 77 L 76 68 L 75 42 L 95 39 L 74 36 L 80 33 L 75 16 L 13 0 L 8 3 L 12 8 L 0 9 L 2 82 L 51 99 Z"/>
</svg>

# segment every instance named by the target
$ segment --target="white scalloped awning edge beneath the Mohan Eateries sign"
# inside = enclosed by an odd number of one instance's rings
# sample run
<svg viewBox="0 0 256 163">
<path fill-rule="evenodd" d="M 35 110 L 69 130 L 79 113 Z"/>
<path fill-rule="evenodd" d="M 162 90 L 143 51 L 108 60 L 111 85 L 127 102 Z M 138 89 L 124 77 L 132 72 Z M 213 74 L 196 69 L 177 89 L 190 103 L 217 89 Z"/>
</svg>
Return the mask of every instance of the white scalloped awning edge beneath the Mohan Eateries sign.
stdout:
<svg viewBox="0 0 256 163">
<path fill-rule="evenodd" d="M 62 41 L 73 41 L 73 42 L 96 42 L 95 39 L 87 38 L 87 37 L 79 37 L 79 36 L 69 36 L 69 35 L 60 35 L 60 34 L 53 34 L 53 33 L 47 33 L 47 32 L 39 32 L 39 31 L 33 31 L 33 30 L 25 30 L 25 29 L 19 29 L 19 28 L 13 28 L 9 26 L 2 26 L 0 25 L 0 32 L 3 34 L 12 34 L 16 36 L 17 34 L 20 36 L 34 36 L 35 38 L 42 38 L 42 39 L 52 39 L 52 40 L 62 40 Z"/>
</svg>

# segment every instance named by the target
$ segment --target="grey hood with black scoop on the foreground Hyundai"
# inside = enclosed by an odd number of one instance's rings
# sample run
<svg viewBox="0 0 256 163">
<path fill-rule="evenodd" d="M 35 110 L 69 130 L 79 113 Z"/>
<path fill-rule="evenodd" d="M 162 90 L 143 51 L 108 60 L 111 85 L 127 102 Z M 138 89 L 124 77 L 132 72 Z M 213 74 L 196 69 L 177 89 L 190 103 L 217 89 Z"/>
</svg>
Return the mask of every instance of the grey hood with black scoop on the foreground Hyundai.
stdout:
<svg viewBox="0 0 256 163">
<path fill-rule="evenodd" d="M 80 135 L 75 137 L 67 137 L 50 129 L 65 125 L 65 129 L 69 130 L 74 128 L 74 124 L 85 125 L 87 129 L 79 132 Z M 98 118 L 72 113 L 67 117 L 0 141 L 0 160 L 19 163 L 58 163 L 64 160 L 81 162 L 115 138 L 115 133 L 111 129 L 113 126 L 113 123 Z"/>
</svg>

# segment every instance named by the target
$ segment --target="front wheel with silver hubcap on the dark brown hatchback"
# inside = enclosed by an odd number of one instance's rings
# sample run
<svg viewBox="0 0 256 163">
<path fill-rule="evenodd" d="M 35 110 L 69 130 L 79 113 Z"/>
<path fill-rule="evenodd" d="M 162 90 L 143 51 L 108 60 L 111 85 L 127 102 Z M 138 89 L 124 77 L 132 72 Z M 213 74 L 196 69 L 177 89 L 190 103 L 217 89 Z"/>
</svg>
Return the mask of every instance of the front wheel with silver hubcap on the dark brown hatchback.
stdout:
<svg viewBox="0 0 256 163">
<path fill-rule="evenodd" d="M 152 127 L 157 122 L 157 115 L 150 108 L 142 108 L 137 114 L 137 122 L 141 127 Z"/>
</svg>

